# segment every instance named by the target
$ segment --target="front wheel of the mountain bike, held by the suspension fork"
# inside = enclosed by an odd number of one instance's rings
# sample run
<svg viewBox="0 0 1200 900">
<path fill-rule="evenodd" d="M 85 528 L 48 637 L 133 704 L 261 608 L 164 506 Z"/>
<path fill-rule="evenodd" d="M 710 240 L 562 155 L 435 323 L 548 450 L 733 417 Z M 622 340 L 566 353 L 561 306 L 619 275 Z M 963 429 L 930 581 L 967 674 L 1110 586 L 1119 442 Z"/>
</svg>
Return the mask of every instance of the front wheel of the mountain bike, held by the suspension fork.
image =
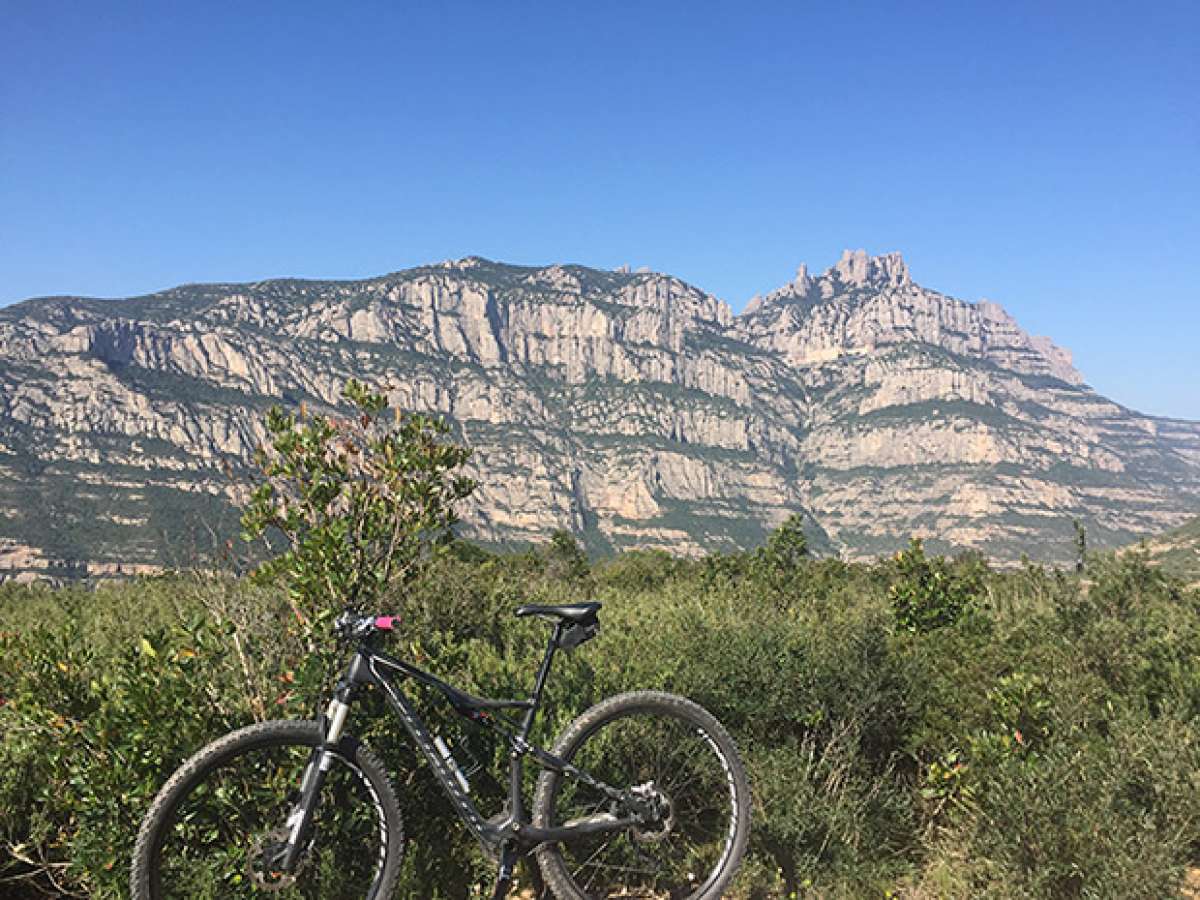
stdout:
<svg viewBox="0 0 1200 900">
<path fill-rule="evenodd" d="M 330 754 L 299 864 L 277 865 L 320 743 L 317 722 L 271 721 L 185 762 L 142 822 L 133 900 L 388 898 L 403 846 L 400 804 L 383 766 L 352 738 Z"/>
</svg>

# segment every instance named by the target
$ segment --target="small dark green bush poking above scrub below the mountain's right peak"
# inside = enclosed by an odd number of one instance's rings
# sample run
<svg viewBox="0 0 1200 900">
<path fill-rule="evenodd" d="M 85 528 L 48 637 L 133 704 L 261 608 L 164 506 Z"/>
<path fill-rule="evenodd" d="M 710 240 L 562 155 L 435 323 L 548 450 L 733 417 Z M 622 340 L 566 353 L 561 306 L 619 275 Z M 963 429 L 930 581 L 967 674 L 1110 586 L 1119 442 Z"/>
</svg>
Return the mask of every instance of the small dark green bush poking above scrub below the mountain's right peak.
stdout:
<svg viewBox="0 0 1200 900">
<path fill-rule="evenodd" d="M 982 582 L 971 566 L 950 566 L 944 558 L 925 556 L 919 538 L 895 558 L 892 610 L 896 626 L 924 634 L 953 625 L 973 604 Z"/>
</svg>

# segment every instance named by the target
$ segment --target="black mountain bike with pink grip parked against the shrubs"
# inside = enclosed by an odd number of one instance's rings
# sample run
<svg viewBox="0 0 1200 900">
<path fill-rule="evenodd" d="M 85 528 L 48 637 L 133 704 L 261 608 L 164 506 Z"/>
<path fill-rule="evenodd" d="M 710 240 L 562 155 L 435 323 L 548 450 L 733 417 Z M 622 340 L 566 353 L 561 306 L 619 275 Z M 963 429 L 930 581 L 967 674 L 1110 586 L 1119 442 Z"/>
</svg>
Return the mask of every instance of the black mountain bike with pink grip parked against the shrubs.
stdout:
<svg viewBox="0 0 1200 900">
<path fill-rule="evenodd" d="M 526 700 L 473 696 L 379 650 L 391 616 L 344 612 L 349 662 L 317 721 L 266 721 L 199 750 L 163 785 L 138 833 L 134 900 L 256 896 L 391 896 L 403 817 L 379 758 L 347 731 L 366 686 L 378 689 L 425 758 L 458 818 L 498 862 L 493 900 L 533 853 L 559 900 L 715 900 L 745 853 L 750 786 L 737 748 L 713 715 L 658 691 L 592 707 L 550 750 L 529 742 L 558 650 L 599 631 L 600 604 L 522 606 L 552 625 Z M 478 760 L 434 736 L 398 683 L 412 679 L 506 744 L 506 798 L 485 818 L 472 799 Z M 448 713 L 449 714 L 449 713 Z M 457 719 L 456 719 L 457 720 Z M 526 812 L 524 764 L 540 769 Z"/>
</svg>

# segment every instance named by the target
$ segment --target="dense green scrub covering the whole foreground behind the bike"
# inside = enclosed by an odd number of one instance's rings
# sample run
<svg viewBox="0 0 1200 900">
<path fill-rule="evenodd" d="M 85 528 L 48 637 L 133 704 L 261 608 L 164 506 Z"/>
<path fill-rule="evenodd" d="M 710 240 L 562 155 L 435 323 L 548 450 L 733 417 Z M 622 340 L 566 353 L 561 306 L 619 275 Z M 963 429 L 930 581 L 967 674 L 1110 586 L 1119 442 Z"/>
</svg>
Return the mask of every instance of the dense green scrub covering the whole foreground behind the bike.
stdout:
<svg viewBox="0 0 1200 900">
<path fill-rule="evenodd" d="M 556 661 L 534 739 L 631 688 L 712 709 L 755 788 L 732 898 L 1178 894 L 1200 862 L 1200 594 L 1136 556 L 1092 554 L 1086 581 L 916 550 L 875 565 L 793 556 L 790 569 L 762 556 L 590 565 L 565 538 L 510 554 L 455 545 L 409 582 L 390 650 L 520 696 L 546 634 L 511 611 L 593 593 L 604 630 Z M 898 617 L 913 586 L 936 613 L 917 620 L 936 625 Z M 292 602 L 232 578 L 0 586 L 6 890 L 124 896 L 136 824 L 167 773 L 238 725 L 313 715 L 334 672 Z M 503 778 L 502 746 L 418 700 Z M 400 895 L 484 889 L 490 863 L 378 697 L 350 730 L 402 797 Z M 498 812 L 503 787 L 472 784 Z"/>
</svg>

